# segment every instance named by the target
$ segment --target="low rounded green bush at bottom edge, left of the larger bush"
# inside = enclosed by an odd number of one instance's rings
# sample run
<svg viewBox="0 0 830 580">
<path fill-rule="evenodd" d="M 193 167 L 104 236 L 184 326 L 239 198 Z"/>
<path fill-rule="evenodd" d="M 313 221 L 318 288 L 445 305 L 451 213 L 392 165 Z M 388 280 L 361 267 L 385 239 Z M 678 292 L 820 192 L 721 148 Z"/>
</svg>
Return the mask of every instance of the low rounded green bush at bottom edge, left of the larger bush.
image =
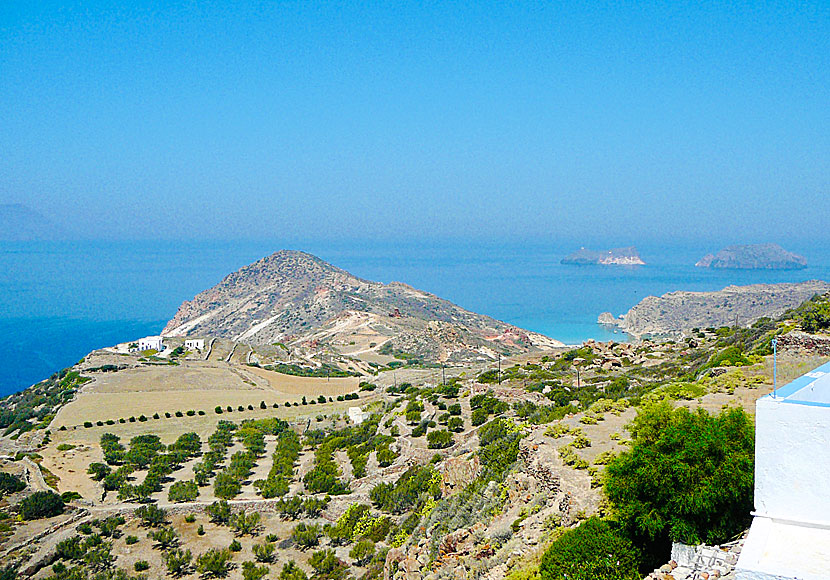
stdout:
<svg viewBox="0 0 830 580">
<path fill-rule="evenodd" d="M 539 575 L 542 580 L 639 580 L 637 563 L 631 541 L 592 517 L 551 544 Z"/>
</svg>

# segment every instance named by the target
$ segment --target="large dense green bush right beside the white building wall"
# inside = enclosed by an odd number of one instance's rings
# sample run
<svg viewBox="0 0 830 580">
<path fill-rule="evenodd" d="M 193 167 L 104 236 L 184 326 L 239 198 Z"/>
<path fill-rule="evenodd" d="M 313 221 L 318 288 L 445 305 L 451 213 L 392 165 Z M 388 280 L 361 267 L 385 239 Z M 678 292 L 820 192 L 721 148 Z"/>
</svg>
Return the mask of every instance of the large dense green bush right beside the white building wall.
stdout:
<svg viewBox="0 0 830 580">
<path fill-rule="evenodd" d="M 742 409 L 710 415 L 663 402 L 640 410 L 629 431 L 605 492 L 632 539 L 650 551 L 670 540 L 717 544 L 749 525 L 755 437 Z"/>
</svg>

